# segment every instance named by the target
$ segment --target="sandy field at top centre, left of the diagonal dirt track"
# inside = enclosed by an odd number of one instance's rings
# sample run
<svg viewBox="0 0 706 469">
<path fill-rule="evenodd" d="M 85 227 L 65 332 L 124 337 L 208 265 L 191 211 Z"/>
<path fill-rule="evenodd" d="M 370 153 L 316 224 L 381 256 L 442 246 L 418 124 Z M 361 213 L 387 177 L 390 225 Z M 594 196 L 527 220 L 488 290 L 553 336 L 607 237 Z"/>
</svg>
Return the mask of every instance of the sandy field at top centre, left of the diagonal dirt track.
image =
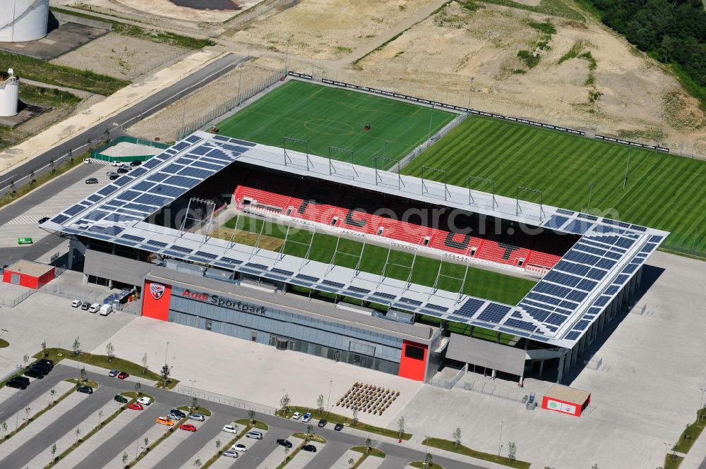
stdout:
<svg viewBox="0 0 706 469">
<path fill-rule="evenodd" d="M 311 59 L 340 59 L 413 16 L 429 0 L 304 0 L 273 11 L 232 39 Z"/>
</svg>

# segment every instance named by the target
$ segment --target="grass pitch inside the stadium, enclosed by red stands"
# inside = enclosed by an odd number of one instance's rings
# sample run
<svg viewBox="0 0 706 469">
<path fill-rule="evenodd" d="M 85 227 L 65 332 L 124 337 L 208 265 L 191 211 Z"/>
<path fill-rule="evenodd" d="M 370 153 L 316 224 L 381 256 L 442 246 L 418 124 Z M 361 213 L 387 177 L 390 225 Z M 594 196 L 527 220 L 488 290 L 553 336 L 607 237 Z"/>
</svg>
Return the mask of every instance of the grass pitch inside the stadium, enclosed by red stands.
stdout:
<svg viewBox="0 0 706 469">
<path fill-rule="evenodd" d="M 224 226 L 232 229 L 235 223 L 236 219 L 234 218 L 227 221 Z M 266 223 L 263 233 L 267 233 L 268 238 L 285 238 L 286 228 L 282 228 L 282 226 L 273 224 L 270 221 L 263 221 L 262 219 L 240 217 L 238 229 L 260 233 L 263 223 Z M 305 230 L 290 231 L 287 244 L 284 247 L 285 253 L 304 257 L 307 247 L 301 243 L 308 243 L 311 236 L 311 232 Z M 338 238 L 335 236 L 323 233 L 313 235 L 309 259 L 319 262 L 330 262 L 337 239 Z M 299 241 L 300 243 L 294 243 L 295 241 Z M 351 255 L 337 255 L 335 264 L 354 268 L 358 262 L 358 258 L 353 255 L 357 255 L 361 252 L 363 248 L 362 243 L 354 240 L 341 239 L 338 248 L 339 251 L 347 252 Z M 277 252 L 279 252 L 280 249 L 281 248 L 277 248 Z M 381 274 L 385 266 L 387 253 L 388 250 L 380 246 L 366 245 L 362 253 L 361 270 L 373 274 Z M 409 276 L 409 267 L 412 266 L 412 259 L 413 255 L 408 252 L 393 251 L 390 254 L 390 262 L 397 265 L 388 266 L 388 269 L 385 270 L 385 276 L 406 280 L 407 276 Z M 434 280 L 439 272 L 440 263 L 441 261 L 439 260 L 417 256 L 412 272 L 412 281 L 416 284 L 433 286 Z M 465 267 L 459 264 L 445 262 L 441 268 L 442 277 L 439 279 L 438 287 L 453 292 L 459 291 L 464 272 Z M 529 279 L 521 279 L 515 276 L 498 274 L 497 272 L 474 269 L 471 267 L 468 269 L 463 292 L 468 295 L 515 305 L 532 289 L 534 283 L 534 281 Z"/>
</svg>

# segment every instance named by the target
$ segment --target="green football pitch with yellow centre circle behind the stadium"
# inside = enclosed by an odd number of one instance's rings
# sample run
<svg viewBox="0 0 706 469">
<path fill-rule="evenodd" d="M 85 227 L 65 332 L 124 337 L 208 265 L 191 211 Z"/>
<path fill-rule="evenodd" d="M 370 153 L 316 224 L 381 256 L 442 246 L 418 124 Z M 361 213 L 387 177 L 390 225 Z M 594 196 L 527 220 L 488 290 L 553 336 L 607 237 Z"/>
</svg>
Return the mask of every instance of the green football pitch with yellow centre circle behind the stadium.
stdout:
<svg viewBox="0 0 706 469">
<path fill-rule="evenodd" d="M 457 114 L 363 92 L 289 80 L 217 124 L 219 133 L 282 147 L 284 137 L 305 140 L 310 154 L 328 157 L 328 147 L 352 150 L 354 163 L 373 157 L 401 159 Z M 370 130 L 364 130 L 370 124 Z M 288 141 L 287 148 L 304 145 Z M 349 159 L 334 151 L 334 159 Z M 382 165 L 382 163 L 381 163 Z M 385 167 L 388 165 L 385 165 Z"/>
</svg>

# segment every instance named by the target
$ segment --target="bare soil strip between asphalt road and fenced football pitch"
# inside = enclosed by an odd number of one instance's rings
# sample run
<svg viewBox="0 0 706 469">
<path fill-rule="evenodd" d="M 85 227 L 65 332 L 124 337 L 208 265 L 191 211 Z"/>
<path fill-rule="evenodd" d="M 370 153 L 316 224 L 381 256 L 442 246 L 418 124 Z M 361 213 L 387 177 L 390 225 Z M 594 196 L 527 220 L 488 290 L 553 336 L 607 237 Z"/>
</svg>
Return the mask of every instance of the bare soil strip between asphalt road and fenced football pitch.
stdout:
<svg viewBox="0 0 706 469">
<path fill-rule="evenodd" d="M 162 142 L 174 142 L 177 131 L 184 123 L 197 121 L 229 99 L 238 96 L 239 88 L 246 90 L 261 83 L 275 71 L 282 70 L 282 63 L 276 60 L 258 59 L 245 63 L 243 68 L 234 69 L 204 85 L 183 99 L 170 104 L 161 111 L 127 129 L 130 135 Z M 239 73 L 242 77 L 239 78 Z"/>
</svg>

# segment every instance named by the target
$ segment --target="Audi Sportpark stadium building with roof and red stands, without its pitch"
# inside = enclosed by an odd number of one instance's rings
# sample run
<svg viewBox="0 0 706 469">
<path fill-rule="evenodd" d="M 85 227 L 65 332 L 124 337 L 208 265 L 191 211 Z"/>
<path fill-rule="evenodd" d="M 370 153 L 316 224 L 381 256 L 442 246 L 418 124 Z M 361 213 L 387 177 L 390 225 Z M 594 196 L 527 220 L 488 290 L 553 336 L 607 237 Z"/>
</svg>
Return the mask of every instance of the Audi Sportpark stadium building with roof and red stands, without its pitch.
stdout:
<svg viewBox="0 0 706 469">
<path fill-rule="evenodd" d="M 561 381 L 628 305 L 647 258 L 669 234 L 521 200 L 523 188 L 518 197 L 502 197 L 474 190 L 478 178 L 462 188 L 375 166 L 196 132 L 42 228 L 70 238 L 69 267 L 83 269 L 87 279 L 140 291 L 146 317 L 419 381 L 442 363 Z M 229 200 L 209 200 L 219 191 Z M 398 221 L 358 210 L 361 198 L 395 213 L 447 209 L 470 221 L 457 232 L 451 217 L 441 226 Z M 400 280 L 384 268 L 371 274 L 360 263 L 311 260 L 311 244 L 306 255 L 294 256 L 284 247 L 263 248 L 262 234 L 254 246 L 217 238 L 209 234 L 213 210 L 195 220 L 197 204 L 282 224 L 285 245 L 295 227 L 410 252 L 415 260 L 435 257 L 540 279 L 517 305 L 505 305 L 436 282 L 414 284 L 411 274 Z M 486 224 L 501 226 L 502 236 L 481 233 Z M 336 301 L 311 300 L 297 288 Z M 441 326 L 414 320 L 421 316 Z M 498 340 L 449 334 L 448 322 L 493 331 Z"/>
</svg>

